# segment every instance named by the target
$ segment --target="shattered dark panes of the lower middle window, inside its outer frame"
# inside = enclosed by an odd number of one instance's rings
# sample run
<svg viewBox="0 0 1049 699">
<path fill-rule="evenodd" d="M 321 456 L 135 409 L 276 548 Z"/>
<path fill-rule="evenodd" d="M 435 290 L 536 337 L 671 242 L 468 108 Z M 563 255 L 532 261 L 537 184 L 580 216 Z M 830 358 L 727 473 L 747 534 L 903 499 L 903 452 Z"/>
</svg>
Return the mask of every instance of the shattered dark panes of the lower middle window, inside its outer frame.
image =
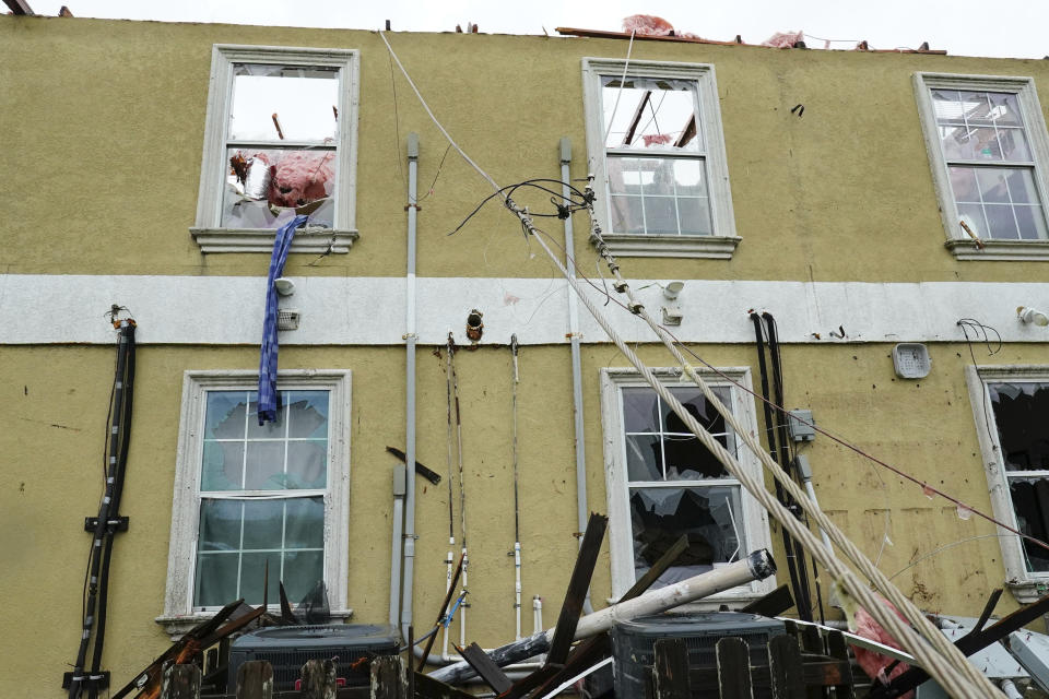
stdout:
<svg viewBox="0 0 1049 699">
<path fill-rule="evenodd" d="M 721 445 L 735 453 L 735 436 L 699 389 L 671 393 Z M 731 405 L 727 387 L 714 389 Z M 731 562 L 746 550 L 739 482 L 649 388 L 623 388 L 624 448 L 636 577 L 648 571 L 682 535 L 688 548 L 657 581 L 662 587 Z"/>
</svg>

